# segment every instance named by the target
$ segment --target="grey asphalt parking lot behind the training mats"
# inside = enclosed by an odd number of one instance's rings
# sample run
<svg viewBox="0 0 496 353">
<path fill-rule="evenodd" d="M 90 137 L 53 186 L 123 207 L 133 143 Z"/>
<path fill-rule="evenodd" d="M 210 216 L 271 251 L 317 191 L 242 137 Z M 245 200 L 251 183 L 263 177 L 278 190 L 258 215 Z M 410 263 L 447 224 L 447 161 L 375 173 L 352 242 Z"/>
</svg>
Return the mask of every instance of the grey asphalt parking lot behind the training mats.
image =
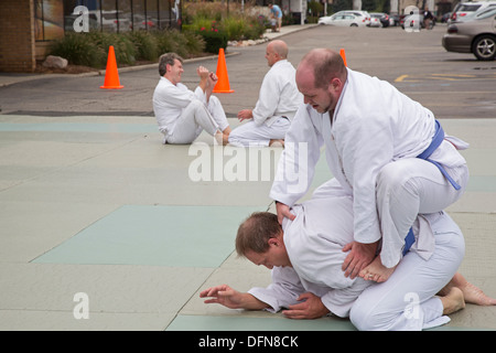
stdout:
<svg viewBox="0 0 496 353">
<path fill-rule="evenodd" d="M 345 49 L 351 68 L 376 75 L 435 111 L 438 118 L 496 117 L 496 62 L 479 62 L 472 54 L 449 53 L 441 45 L 446 30 L 406 32 L 401 28 L 313 26 L 282 36 L 296 65 L 313 47 Z M 229 83 L 235 94 L 220 95 L 226 111 L 255 105 L 258 86 L 267 72 L 265 45 L 228 47 Z M 201 61 L 215 71 L 216 57 Z M 196 83 L 197 62 L 185 65 L 183 82 Z M 99 89 L 104 77 L 40 78 L 3 87 L 3 114 L 152 115 L 151 95 L 159 74 L 155 66 L 120 73 L 125 89 Z"/>
</svg>

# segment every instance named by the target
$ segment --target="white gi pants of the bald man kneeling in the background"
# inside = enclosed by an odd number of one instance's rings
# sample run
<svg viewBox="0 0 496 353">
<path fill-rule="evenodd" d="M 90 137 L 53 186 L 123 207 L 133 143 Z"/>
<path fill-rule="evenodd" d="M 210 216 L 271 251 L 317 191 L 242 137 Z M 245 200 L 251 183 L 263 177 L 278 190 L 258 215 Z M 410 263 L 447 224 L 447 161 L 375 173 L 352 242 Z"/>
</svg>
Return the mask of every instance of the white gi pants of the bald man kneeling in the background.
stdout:
<svg viewBox="0 0 496 353">
<path fill-rule="evenodd" d="M 236 147 L 267 147 L 270 140 L 284 139 L 291 122 L 287 118 L 279 118 L 270 126 L 265 124 L 257 126 L 249 120 L 229 133 L 229 143 Z"/>
</svg>

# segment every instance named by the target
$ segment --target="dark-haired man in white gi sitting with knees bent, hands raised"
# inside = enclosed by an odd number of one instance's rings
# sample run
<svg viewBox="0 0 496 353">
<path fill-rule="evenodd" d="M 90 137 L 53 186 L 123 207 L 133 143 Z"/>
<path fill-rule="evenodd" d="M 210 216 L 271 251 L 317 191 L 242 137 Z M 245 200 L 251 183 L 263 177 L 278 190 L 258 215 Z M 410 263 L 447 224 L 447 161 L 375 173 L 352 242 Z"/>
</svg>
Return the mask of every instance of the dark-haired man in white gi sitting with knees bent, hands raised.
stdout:
<svg viewBox="0 0 496 353">
<path fill-rule="evenodd" d="M 200 84 L 192 92 L 181 83 L 183 72 L 183 58 L 177 54 L 160 57 L 161 77 L 153 93 L 153 111 L 164 135 L 163 143 L 191 143 L 205 130 L 218 143 L 226 145 L 229 122 L 220 100 L 212 95 L 217 76 L 200 66 Z"/>
</svg>

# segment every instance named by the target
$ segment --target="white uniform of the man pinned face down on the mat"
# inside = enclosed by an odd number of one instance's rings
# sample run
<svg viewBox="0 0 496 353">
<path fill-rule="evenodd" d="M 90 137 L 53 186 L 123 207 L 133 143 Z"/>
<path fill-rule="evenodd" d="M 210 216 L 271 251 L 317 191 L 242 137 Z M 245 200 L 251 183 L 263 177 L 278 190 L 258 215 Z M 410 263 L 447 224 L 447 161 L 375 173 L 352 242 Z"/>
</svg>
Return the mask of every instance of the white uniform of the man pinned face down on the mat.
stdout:
<svg viewBox="0 0 496 353">
<path fill-rule="evenodd" d="M 417 234 L 435 234 L 429 260 L 408 253 L 384 284 L 344 276 L 345 244 L 353 240 L 349 196 L 312 199 L 292 208 L 294 221 L 283 221 L 284 245 L 292 267 L 272 268 L 272 284 L 248 292 L 277 312 L 296 303 L 304 292 L 320 297 L 335 315 L 351 317 L 359 330 L 422 330 L 450 321 L 435 293 L 456 272 L 464 255 L 463 235 L 444 213 L 419 216 Z"/>
</svg>

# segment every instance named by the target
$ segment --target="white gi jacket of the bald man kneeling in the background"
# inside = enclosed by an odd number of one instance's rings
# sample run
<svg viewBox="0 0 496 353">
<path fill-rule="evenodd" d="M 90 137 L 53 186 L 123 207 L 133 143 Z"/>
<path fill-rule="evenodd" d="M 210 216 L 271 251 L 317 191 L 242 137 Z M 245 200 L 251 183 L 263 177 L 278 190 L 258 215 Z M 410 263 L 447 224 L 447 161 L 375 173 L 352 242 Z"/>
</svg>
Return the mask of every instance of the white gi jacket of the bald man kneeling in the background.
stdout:
<svg viewBox="0 0 496 353">
<path fill-rule="evenodd" d="M 263 77 L 260 94 L 255 106 L 254 121 L 271 126 L 278 118 L 285 116 L 290 121 L 303 101 L 295 83 L 296 71 L 287 60 L 272 65 Z"/>
</svg>

